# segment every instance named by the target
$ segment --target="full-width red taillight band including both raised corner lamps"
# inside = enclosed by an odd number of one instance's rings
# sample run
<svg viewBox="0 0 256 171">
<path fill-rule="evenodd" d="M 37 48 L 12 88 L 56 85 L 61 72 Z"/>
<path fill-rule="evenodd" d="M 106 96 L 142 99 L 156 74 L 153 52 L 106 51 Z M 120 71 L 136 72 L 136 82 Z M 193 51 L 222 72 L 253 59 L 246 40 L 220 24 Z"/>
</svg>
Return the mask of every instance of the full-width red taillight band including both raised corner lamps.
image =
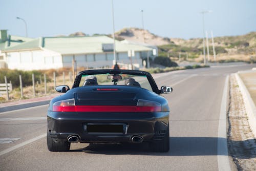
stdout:
<svg viewBox="0 0 256 171">
<path fill-rule="evenodd" d="M 53 104 L 54 112 L 161 112 L 161 104 L 154 101 L 138 100 L 131 105 L 75 105 L 74 99 L 57 101 Z"/>
</svg>

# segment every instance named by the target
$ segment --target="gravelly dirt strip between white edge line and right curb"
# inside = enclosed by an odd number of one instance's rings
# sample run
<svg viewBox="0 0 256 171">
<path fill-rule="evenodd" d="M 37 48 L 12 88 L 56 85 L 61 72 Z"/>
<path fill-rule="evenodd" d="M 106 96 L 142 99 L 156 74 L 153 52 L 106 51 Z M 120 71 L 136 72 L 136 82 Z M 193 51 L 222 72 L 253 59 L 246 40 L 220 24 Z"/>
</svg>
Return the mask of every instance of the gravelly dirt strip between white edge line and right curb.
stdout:
<svg viewBox="0 0 256 171">
<path fill-rule="evenodd" d="M 228 148 L 238 170 L 256 169 L 256 139 L 250 129 L 236 77 L 230 76 Z"/>
</svg>

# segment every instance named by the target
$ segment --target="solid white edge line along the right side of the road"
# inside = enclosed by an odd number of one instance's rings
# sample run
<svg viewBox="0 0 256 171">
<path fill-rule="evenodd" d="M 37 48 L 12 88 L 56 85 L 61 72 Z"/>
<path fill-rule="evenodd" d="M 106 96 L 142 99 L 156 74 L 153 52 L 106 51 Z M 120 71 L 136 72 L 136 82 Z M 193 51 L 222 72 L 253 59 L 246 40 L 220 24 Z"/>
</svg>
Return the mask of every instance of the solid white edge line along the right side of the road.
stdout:
<svg viewBox="0 0 256 171">
<path fill-rule="evenodd" d="M 221 113 L 219 118 L 218 129 L 218 168 L 219 170 L 231 170 L 228 158 L 227 149 L 227 133 L 226 133 L 226 115 L 227 115 L 227 94 L 228 94 L 228 80 L 226 76 L 225 86 L 221 100 Z"/>
</svg>

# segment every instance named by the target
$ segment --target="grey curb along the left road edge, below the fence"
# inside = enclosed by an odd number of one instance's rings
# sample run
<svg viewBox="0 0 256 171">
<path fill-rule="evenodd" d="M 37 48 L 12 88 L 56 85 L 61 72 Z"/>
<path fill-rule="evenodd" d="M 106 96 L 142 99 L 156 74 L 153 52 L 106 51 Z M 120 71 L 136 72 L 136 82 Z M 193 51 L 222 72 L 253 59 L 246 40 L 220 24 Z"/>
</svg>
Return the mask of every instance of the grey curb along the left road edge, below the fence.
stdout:
<svg viewBox="0 0 256 171">
<path fill-rule="evenodd" d="M 38 106 L 38 105 L 45 105 L 45 104 L 49 104 L 50 101 L 51 100 L 45 100 L 45 101 L 36 101 L 36 102 L 31 102 L 31 103 L 23 103 L 23 104 L 5 106 L 5 107 L 0 108 L 0 113 L 19 110 L 19 109 L 25 109 L 25 108 L 31 108 L 31 107 Z"/>
</svg>

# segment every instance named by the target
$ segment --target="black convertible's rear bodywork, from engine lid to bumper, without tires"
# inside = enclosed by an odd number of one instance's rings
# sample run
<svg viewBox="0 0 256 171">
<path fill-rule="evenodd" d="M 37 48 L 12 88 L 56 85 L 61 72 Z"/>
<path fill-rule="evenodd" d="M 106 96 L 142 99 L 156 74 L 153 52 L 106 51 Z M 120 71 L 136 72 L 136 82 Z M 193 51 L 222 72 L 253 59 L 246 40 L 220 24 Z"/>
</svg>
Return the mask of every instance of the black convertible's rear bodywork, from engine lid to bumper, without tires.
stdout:
<svg viewBox="0 0 256 171">
<path fill-rule="evenodd" d="M 69 97 L 50 103 L 48 130 L 52 139 L 140 143 L 161 140 L 166 133 L 167 101 L 148 90 L 91 86 L 72 89 Z"/>
</svg>

